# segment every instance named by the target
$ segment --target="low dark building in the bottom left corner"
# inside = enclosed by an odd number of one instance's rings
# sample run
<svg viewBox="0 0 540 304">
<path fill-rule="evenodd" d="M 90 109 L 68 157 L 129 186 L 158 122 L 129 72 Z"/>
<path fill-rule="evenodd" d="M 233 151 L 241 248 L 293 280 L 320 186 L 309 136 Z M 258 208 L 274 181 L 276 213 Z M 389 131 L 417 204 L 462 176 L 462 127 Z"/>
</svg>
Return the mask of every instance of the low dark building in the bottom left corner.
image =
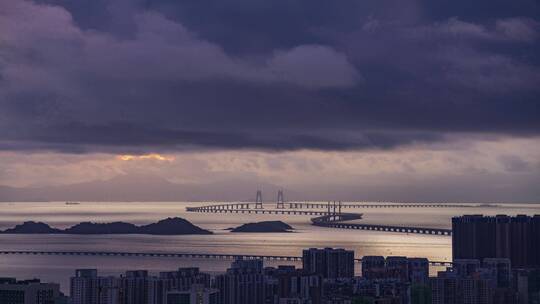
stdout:
<svg viewBox="0 0 540 304">
<path fill-rule="evenodd" d="M 41 283 L 38 279 L 0 278 L 2 304 L 56 304 L 62 297 L 59 284 Z"/>
</svg>

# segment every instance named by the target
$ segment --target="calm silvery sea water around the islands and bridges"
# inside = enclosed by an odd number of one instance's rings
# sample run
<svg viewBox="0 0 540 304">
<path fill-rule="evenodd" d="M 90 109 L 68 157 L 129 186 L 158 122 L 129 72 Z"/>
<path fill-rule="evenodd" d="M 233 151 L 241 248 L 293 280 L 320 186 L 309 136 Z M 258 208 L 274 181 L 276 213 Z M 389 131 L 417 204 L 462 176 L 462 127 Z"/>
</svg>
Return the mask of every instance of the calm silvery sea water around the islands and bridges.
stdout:
<svg viewBox="0 0 540 304">
<path fill-rule="evenodd" d="M 0 229 L 24 221 L 43 221 L 65 228 L 82 221 L 126 221 L 147 224 L 166 217 L 183 217 L 195 225 L 215 232 L 214 235 L 147 236 L 147 235 L 0 235 L 0 250 L 50 251 L 132 251 L 132 252 L 201 252 L 233 254 L 301 255 L 308 247 L 342 247 L 364 255 L 404 255 L 430 260 L 451 260 L 451 238 L 448 236 L 407 235 L 402 233 L 356 231 L 313 227 L 309 216 L 202 214 L 188 213 L 186 206 L 201 203 L 95 203 L 66 205 L 64 202 L 0 203 Z M 540 214 L 540 205 L 502 204 L 499 207 L 430 208 L 430 209 L 354 209 L 364 213 L 365 223 L 415 225 L 449 228 L 452 216 L 462 214 Z M 268 207 L 270 208 L 270 206 Z M 353 211 L 354 212 L 354 211 Z M 296 228 L 295 233 L 230 233 L 226 228 L 262 220 L 282 220 Z M 119 274 L 127 269 L 154 272 L 182 266 L 199 266 L 210 272 L 223 271 L 230 261 L 141 257 L 76 256 L 0 256 L 0 277 L 20 279 L 39 277 L 60 282 L 69 288 L 69 277 L 75 268 L 98 268 L 102 274 Z M 279 262 L 283 264 L 283 262 Z M 272 263 L 266 263 L 272 265 Z"/>
</svg>

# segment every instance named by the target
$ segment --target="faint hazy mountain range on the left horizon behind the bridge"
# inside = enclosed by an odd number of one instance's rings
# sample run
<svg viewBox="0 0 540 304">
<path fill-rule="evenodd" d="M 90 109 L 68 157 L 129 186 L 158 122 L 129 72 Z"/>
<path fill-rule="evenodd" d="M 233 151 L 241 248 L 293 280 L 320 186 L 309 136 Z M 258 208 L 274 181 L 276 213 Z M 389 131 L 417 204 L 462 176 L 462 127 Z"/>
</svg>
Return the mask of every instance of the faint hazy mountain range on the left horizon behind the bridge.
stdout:
<svg viewBox="0 0 540 304">
<path fill-rule="evenodd" d="M 266 201 L 275 201 L 280 187 L 255 179 L 176 184 L 152 175 L 121 175 L 55 187 L 0 186 L 0 201 L 253 201 L 258 189 Z M 285 193 L 289 199 L 298 197 L 286 189 Z"/>
</svg>

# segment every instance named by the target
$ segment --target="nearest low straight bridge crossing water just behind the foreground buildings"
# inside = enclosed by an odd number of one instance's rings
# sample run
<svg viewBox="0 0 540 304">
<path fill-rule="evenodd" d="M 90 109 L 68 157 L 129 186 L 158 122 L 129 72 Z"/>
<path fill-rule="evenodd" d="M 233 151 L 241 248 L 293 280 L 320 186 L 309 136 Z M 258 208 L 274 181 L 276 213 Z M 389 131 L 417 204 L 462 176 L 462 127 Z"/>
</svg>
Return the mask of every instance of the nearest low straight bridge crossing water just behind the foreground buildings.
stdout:
<svg viewBox="0 0 540 304">
<path fill-rule="evenodd" d="M 222 253 L 165 253 L 165 252 L 118 252 L 118 251 L 29 251 L 29 250 L 2 250 L 0 255 L 69 255 L 69 256 L 129 256 L 129 257 L 159 257 L 159 258 L 194 258 L 194 259 L 217 259 L 234 260 L 262 259 L 265 261 L 302 261 L 300 256 L 282 255 L 250 255 L 250 254 L 222 254 Z M 361 263 L 362 259 L 354 259 Z M 432 266 L 452 266 L 451 262 L 429 261 Z"/>
</svg>

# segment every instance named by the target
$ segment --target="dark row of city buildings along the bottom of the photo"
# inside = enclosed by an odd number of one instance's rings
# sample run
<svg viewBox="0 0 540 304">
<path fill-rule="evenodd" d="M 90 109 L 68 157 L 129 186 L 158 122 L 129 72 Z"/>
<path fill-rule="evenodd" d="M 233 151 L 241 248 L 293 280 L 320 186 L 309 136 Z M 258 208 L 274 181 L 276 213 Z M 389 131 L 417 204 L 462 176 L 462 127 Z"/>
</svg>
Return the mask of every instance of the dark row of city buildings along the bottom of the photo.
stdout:
<svg viewBox="0 0 540 304">
<path fill-rule="evenodd" d="M 456 258 L 451 267 L 430 275 L 426 258 L 366 256 L 357 276 L 354 251 L 309 248 L 302 256 L 302 268 L 265 267 L 262 259 L 235 257 L 225 272 L 217 274 L 193 266 L 159 273 L 138 268 L 106 276 L 96 268 L 75 269 L 68 296 L 57 283 L 0 277 L 0 300 L 7 304 L 532 304 L 540 299 L 538 268 L 515 267 L 508 258 Z"/>
</svg>

